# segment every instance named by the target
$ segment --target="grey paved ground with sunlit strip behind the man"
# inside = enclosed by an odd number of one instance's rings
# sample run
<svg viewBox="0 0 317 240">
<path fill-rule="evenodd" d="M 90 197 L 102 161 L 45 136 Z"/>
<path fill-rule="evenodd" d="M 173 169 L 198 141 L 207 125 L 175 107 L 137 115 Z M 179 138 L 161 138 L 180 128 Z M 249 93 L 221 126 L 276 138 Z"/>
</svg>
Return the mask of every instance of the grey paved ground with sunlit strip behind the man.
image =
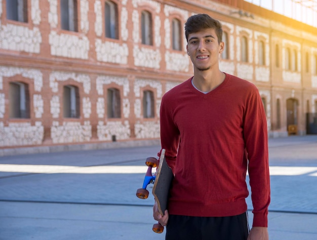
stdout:
<svg viewBox="0 0 317 240">
<path fill-rule="evenodd" d="M 164 239 L 151 231 L 153 198 L 135 196 L 145 158 L 159 150 L 0 157 L 0 240 Z M 269 156 L 270 239 L 317 239 L 317 135 L 269 139 Z"/>
</svg>

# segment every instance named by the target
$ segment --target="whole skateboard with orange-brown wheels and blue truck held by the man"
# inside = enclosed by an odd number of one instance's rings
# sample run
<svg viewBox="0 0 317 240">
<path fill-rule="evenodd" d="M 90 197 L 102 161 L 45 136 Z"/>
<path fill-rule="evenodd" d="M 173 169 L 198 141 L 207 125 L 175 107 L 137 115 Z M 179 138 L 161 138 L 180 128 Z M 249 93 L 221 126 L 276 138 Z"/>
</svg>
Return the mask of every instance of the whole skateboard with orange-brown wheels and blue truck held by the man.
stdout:
<svg viewBox="0 0 317 240">
<path fill-rule="evenodd" d="M 157 161 L 155 157 L 148 157 L 146 158 L 145 164 L 148 168 L 144 177 L 143 186 L 137 190 L 136 195 L 141 199 L 146 199 L 149 195 L 146 187 L 148 184 L 153 183 L 152 194 L 160 214 L 164 215 L 167 209 L 170 185 L 174 178 L 172 169 L 168 166 L 165 159 L 165 149 L 162 149 L 159 161 Z M 159 166 L 157 166 L 158 164 Z M 155 167 L 156 173 L 152 175 L 152 168 Z M 156 223 L 153 225 L 152 230 L 156 233 L 162 233 L 164 227 L 160 223 Z"/>
</svg>

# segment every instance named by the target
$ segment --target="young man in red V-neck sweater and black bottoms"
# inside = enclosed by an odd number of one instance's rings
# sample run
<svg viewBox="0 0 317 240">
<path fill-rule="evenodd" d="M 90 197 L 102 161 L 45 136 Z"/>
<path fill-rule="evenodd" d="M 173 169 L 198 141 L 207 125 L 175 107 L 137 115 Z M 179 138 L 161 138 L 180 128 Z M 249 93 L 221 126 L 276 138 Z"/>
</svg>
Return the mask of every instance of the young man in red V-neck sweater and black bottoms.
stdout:
<svg viewBox="0 0 317 240">
<path fill-rule="evenodd" d="M 168 240 L 267 240 L 267 125 L 258 89 L 219 70 L 224 49 L 219 21 L 191 16 L 185 35 L 194 75 L 162 99 L 161 145 L 175 178 L 168 211 L 161 216 L 155 203 L 153 217 L 167 226 Z"/>
</svg>

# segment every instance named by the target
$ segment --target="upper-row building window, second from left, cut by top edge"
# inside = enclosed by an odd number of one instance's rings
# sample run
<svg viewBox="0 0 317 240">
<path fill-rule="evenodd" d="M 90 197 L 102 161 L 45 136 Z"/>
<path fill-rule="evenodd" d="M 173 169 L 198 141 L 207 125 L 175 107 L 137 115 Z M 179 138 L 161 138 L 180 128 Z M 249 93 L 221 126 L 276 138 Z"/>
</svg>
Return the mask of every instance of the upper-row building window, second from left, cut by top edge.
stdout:
<svg viewBox="0 0 317 240">
<path fill-rule="evenodd" d="M 77 0 L 61 0 L 62 29 L 78 31 Z"/>
</svg>

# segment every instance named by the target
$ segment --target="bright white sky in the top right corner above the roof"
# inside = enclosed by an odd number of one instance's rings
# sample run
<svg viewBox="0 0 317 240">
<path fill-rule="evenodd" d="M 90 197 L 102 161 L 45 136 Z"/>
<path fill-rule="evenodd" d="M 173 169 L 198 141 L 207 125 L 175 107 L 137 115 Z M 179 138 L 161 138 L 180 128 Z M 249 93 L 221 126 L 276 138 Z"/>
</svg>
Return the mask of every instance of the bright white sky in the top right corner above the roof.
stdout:
<svg viewBox="0 0 317 240">
<path fill-rule="evenodd" d="M 317 27 L 317 0 L 245 0 Z"/>
</svg>

